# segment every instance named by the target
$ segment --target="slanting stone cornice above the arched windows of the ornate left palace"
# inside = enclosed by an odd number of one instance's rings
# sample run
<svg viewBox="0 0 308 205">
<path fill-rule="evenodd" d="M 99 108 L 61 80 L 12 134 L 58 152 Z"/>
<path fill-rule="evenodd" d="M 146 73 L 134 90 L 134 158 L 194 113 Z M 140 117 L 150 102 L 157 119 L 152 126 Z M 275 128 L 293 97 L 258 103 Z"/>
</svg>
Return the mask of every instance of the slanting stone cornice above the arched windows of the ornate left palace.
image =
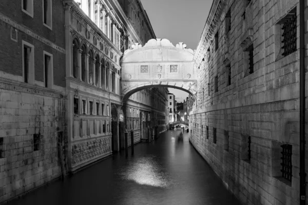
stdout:
<svg viewBox="0 0 308 205">
<path fill-rule="evenodd" d="M 104 40 L 104 42 L 110 46 L 115 52 L 118 53 L 118 55 L 122 55 L 122 52 L 120 51 L 120 49 L 118 49 L 117 47 L 115 47 L 115 45 L 112 43 L 112 41 L 103 33 L 103 31 L 101 31 L 101 29 L 98 28 L 97 25 L 94 24 L 94 22 L 92 22 L 92 20 L 89 18 L 89 16 L 87 16 L 82 10 L 81 8 L 79 8 L 78 4 L 75 3 L 73 1 L 72 6 L 71 6 L 71 10 L 74 11 L 74 13 L 81 19 L 83 20 L 83 22 L 88 25 L 88 27 L 90 27 L 92 29 L 93 32 L 95 32 L 96 35 L 98 35 L 100 38 L 102 38 Z"/>
</svg>

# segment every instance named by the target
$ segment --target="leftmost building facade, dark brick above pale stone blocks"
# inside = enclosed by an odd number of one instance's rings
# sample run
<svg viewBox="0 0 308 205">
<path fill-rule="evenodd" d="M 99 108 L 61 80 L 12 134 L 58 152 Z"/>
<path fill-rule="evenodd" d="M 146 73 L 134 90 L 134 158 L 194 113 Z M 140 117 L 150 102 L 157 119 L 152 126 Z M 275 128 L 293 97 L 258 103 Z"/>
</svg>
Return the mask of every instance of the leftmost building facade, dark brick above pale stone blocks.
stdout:
<svg viewBox="0 0 308 205">
<path fill-rule="evenodd" d="M 63 19 L 61 1 L 0 2 L 0 202 L 67 172 Z"/>
</svg>

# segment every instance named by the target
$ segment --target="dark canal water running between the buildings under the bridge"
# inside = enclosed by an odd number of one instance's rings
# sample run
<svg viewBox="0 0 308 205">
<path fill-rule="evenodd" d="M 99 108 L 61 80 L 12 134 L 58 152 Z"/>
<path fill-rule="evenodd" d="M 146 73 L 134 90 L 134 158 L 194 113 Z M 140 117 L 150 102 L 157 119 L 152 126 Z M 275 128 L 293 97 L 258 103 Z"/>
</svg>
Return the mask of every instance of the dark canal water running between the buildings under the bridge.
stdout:
<svg viewBox="0 0 308 205">
<path fill-rule="evenodd" d="M 180 132 L 169 130 L 135 145 L 133 156 L 130 149 L 128 158 L 115 153 L 9 204 L 240 204 Z"/>
</svg>

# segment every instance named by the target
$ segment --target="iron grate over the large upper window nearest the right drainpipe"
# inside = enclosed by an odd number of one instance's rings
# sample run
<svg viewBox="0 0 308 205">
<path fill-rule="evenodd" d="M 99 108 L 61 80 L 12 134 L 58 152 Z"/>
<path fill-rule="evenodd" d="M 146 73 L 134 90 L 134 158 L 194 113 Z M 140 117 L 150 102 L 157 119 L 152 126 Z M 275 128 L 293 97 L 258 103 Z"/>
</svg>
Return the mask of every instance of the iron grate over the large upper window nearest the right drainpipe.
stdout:
<svg viewBox="0 0 308 205">
<path fill-rule="evenodd" d="M 287 56 L 296 51 L 296 23 L 297 23 L 296 10 L 288 13 L 287 16 L 284 17 L 283 26 L 282 26 L 282 43 L 283 46 L 283 56 Z"/>
</svg>

